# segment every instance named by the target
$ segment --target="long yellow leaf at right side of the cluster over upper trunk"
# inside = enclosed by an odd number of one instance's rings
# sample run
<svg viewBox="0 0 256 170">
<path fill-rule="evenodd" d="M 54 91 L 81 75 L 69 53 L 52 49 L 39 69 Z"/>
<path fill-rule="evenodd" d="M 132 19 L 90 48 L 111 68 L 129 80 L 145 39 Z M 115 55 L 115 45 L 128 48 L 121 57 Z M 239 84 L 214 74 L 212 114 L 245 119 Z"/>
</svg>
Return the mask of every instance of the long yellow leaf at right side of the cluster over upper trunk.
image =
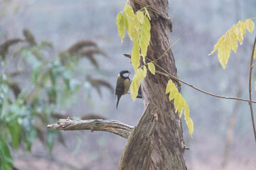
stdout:
<svg viewBox="0 0 256 170">
<path fill-rule="evenodd" d="M 141 54 L 142 54 L 144 62 L 145 62 L 147 48 L 148 48 L 149 42 L 150 42 L 150 29 L 151 29 L 151 26 L 150 26 L 149 19 L 146 18 L 146 16 L 144 16 L 141 31 L 139 34 L 140 35 L 139 36 L 139 46 L 141 47 Z"/>
</svg>

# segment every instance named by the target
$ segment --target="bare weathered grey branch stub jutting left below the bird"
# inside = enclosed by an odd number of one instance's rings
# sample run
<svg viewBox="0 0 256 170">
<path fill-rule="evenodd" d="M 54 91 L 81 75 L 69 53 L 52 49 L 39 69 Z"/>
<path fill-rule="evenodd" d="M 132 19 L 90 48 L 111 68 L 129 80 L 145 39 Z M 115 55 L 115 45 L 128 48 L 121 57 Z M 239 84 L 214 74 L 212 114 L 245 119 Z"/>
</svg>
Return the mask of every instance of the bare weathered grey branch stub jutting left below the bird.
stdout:
<svg viewBox="0 0 256 170">
<path fill-rule="evenodd" d="M 57 124 L 48 125 L 47 128 L 56 130 L 92 130 L 112 132 L 124 138 L 128 138 L 133 126 L 126 125 L 117 120 L 70 120 L 60 119 Z"/>
</svg>

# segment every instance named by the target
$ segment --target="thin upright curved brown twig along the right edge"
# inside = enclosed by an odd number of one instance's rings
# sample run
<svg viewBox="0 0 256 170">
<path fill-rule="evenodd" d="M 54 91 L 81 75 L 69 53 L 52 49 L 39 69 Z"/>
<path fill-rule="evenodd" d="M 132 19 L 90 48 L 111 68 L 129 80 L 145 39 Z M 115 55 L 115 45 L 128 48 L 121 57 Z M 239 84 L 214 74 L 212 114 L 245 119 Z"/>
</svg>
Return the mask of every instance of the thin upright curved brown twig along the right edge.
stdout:
<svg viewBox="0 0 256 170">
<path fill-rule="evenodd" d="M 252 128 L 253 128 L 253 132 L 255 135 L 255 142 L 256 142 L 256 130 L 255 130 L 255 122 L 254 122 L 254 118 L 253 118 L 253 111 L 252 111 L 252 64 L 253 64 L 253 55 L 254 55 L 254 51 L 255 51 L 255 45 L 256 45 L 256 36 L 255 36 L 255 42 L 253 44 L 253 48 L 252 48 L 252 56 L 251 56 L 251 62 L 250 62 L 250 75 L 249 75 L 249 105 L 250 105 L 250 112 L 251 112 L 251 116 L 252 116 Z"/>
</svg>

